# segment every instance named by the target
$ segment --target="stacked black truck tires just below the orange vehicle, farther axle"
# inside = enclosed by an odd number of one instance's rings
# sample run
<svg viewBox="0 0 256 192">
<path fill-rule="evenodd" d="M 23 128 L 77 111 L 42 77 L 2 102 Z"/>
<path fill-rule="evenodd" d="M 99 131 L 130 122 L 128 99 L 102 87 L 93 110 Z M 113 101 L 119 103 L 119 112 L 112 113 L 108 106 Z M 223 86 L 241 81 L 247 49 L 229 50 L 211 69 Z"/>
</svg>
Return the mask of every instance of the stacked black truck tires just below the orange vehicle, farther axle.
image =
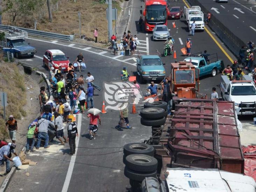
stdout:
<svg viewBox="0 0 256 192">
<path fill-rule="evenodd" d="M 165 123 L 167 116 L 167 103 L 164 101 L 146 102 L 144 109 L 141 110 L 141 125 L 144 126 L 161 126 Z"/>
</svg>

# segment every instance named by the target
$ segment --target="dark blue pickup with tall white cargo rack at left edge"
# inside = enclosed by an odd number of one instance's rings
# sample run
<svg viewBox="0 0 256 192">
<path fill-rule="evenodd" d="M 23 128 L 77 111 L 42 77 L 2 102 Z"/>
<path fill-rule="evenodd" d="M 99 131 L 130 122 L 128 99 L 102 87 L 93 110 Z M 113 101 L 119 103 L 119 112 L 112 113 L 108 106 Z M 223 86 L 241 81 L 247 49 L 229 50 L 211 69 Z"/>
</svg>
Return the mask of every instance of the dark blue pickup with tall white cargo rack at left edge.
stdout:
<svg viewBox="0 0 256 192">
<path fill-rule="evenodd" d="M 28 37 L 28 33 L 24 30 L 8 26 L 8 31 L 0 31 L 4 34 L 0 47 L 3 52 L 13 53 L 14 57 L 20 58 L 23 56 L 34 57 L 36 48 L 27 43 L 24 38 Z"/>
</svg>

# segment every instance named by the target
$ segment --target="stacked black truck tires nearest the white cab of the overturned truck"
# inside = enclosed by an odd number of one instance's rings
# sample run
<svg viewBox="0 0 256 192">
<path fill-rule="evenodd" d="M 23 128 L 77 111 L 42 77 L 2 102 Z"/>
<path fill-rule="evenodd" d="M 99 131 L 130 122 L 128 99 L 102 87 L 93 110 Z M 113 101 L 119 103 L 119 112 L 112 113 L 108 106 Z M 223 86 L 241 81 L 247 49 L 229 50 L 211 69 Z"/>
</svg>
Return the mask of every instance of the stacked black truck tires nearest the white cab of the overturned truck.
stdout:
<svg viewBox="0 0 256 192">
<path fill-rule="evenodd" d="M 128 143 L 123 147 L 125 176 L 132 181 L 142 182 L 146 177 L 156 177 L 157 159 L 154 147 L 144 143 Z"/>
</svg>

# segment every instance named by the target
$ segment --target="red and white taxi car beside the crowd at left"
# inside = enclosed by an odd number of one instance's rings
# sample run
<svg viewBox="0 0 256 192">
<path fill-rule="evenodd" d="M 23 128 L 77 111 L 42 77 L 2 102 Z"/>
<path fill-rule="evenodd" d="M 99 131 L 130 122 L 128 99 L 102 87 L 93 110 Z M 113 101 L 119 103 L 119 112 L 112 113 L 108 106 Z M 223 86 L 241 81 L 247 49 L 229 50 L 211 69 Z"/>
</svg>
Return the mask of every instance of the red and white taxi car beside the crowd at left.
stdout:
<svg viewBox="0 0 256 192">
<path fill-rule="evenodd" d="M 49 63 L 54 67 L 54 69 L 58 69 L 59 66 L 62 67 L 63 71 L 67 71 L 67 67 L 69 66 L 69 57 L 58 49 L 50 49 L 47 50 L 43 57 L 43 66 L 48 67 Z"/>
</svg>

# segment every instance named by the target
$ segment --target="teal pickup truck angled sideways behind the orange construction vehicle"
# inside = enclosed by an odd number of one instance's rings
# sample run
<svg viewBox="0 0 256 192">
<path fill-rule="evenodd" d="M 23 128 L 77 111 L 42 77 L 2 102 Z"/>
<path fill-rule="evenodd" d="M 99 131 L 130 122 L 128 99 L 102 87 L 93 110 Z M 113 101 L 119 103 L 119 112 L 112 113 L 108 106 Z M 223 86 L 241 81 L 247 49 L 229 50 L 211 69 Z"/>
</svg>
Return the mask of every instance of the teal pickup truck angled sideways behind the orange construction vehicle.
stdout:
<svg viewBox="0 0 256 192">
<path fill-rule="evenodd" d="M 214 54 L 215 55 L 215 54 Z M 222 72 L 224 69 L 224 63 L 222 60 L 218 60 L 218 57 L 212 58 L 215 61 L 211 62 L 211 58 L 209 57 L 210 62 L 207 62 L 204 57 L 187 57 L 184 59 L 185 62 L 191 62 L 196 68 L 200 70 L 199 77 L 203 77 L 211 74 L 212 77 L 218 74 L 218 71 Z"/>
</svg>

